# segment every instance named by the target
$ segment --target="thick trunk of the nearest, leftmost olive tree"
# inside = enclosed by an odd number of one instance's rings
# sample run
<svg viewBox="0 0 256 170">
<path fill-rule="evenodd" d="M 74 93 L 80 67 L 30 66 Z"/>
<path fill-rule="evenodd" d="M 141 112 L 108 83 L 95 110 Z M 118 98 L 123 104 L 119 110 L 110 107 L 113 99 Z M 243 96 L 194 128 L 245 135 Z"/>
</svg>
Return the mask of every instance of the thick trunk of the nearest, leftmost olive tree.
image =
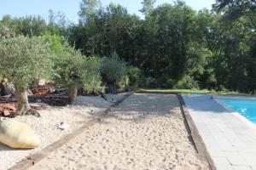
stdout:
<svg viewBox="0 0 256 170">
<path fill-rule="evenodd" d="M 19 86 L 15 86 L 15 93 L 16 93 L 16 98 L 17 98 L 17 102 L 18 102 L 18 109 L 16 111 L 17 115 L 19 115 L 19 116 L 24 116 L 24 115 L 40 116 L 38 111 L 33 110 L 28 105 L 26 88 L 21 88 Z"/>
</svg>

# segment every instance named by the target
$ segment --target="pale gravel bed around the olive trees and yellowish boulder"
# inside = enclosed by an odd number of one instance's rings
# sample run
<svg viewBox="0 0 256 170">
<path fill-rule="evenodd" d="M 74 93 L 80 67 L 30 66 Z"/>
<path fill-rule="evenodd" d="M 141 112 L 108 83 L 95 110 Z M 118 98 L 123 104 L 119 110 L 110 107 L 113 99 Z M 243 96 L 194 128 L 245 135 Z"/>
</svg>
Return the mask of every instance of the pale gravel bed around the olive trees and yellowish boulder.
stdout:
<svg viewBox="0 0 256 170">
<path fill-rule="evenodd" d="M 115 101 L 123 94 L 108 95 L 108 99 Z M 31 154 L 44 149 L 49 144 L 81 127 L 84 122 L 90 121 L 97 113 L 104 111 L 113 103 L 101 97 L 79 96 L 78 105 L 67 107 L 49 107 L 48 111 L 39 111 L 40 118 L 36 116 L 18 116 L 16 120 L 26 122 L 38 134 L 41 145 L 34 150 L 15 150 L 0 143 L 0 170 L 13 167 L 17 162 Z M 61 122 L 69 125 L 67 129 L 57 128 Z"/>
</svg>

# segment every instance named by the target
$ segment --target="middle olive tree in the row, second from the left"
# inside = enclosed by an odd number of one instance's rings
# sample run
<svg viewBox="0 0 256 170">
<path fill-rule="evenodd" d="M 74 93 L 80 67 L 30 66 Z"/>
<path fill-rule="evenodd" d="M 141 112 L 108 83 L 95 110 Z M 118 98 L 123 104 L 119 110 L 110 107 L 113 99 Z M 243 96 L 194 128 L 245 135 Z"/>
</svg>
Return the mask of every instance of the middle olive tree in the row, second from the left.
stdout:
<svg viewBox="0 0 256 170">
<path fill-rule="evenodd" d="M 55 81 L 68 88 L 69 104 L 77 102 L 78 88 L 87 92 L 102 91 L 100 65 L 96 58 L 87 58 L 79 50 L 63 45 L 55 59 Z"/>
</svg>

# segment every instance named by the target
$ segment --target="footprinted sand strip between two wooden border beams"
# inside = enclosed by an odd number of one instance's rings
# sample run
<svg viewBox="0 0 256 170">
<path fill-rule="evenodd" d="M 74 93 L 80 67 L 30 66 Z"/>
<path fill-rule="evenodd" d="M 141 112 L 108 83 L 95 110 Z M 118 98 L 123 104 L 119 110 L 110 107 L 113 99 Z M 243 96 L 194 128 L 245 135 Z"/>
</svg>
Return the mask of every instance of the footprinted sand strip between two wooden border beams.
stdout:
<svg viewBox="0 0 256 170">
<path fill-rule="evenodd" d="M 209 169 L 201 161 L 172 94 L 133 94 L 103 122 L 55 150 L 31 170 Z"/>
</svg>

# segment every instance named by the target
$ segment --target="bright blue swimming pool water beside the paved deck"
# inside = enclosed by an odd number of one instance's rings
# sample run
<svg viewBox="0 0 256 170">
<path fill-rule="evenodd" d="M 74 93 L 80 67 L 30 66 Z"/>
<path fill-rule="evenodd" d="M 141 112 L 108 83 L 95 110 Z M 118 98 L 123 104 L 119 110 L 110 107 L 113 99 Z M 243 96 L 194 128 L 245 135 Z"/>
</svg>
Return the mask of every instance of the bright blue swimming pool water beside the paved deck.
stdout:
<svg viewBox="0 0 256 170">
<path fill-rule="evenodd" d="M 256 124 L 256 100 L 247 99 L 218 99 L 233 111 L 245 116 L 249 121 Z"/>
</svg>

